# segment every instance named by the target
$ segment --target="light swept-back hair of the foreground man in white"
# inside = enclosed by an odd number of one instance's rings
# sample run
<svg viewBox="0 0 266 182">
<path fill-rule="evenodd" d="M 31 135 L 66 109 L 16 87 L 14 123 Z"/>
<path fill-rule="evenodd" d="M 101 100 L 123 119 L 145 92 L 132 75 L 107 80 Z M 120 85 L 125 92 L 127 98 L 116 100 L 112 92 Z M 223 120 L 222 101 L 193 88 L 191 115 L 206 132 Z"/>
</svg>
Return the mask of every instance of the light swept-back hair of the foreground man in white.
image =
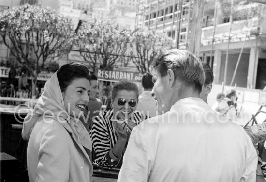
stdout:
<svg viewBox="0 0 266 182">
<path fill-rule="evenodd" d="M 181 82 L 184 87 L 193 87 L 198 93 L 201 92 L 205 81 L 205 75 L 200 59 L 187 50 L 166 50 L 161 53 L 150 67 L 150 72 L 161 77 L 166 76 L 167 70 L 171 69 L 175 75 L 175 81 Z"/>
</svg>

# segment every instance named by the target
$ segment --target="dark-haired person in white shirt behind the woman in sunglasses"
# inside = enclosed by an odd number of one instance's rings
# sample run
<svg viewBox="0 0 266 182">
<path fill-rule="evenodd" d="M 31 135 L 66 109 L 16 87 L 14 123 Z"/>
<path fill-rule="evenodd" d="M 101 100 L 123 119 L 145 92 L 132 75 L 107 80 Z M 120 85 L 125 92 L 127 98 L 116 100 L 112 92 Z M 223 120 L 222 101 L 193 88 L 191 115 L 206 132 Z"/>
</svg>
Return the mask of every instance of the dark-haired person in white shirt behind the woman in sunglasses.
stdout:
<svg viewBox="0 0 266 182">
<path fill-rule="evenodd" d="M 152 82 L 152 75 L 150 73 L 145 73 L 141 80 L 144 91 L 138 97 L 138 105 L 136 110 L 142 112 L 148 117 L 156 116 L 156 102 L 151 96 L 151 90 L 154 86 Z"/>
</svg>

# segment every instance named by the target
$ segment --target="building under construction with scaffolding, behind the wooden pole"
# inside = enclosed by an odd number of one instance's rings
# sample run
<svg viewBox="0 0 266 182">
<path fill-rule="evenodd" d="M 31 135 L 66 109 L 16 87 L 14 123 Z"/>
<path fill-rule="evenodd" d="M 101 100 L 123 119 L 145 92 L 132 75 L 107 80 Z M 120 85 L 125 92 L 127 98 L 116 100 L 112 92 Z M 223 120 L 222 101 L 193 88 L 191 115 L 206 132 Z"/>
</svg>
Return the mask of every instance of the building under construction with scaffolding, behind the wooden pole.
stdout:
<svg viewBox="0 0 266 182">
<path fill-rule="evenodd" d="M 188 49 L 193 0 L 137 3 L 136 28 L 162 31 L 176 41 L 177 48 Z M 265 4 L 206 0 L 199 56 L 213 68 L 214 83 L 257 89 L 266 86 L 265 13 Z"/>
</svg>

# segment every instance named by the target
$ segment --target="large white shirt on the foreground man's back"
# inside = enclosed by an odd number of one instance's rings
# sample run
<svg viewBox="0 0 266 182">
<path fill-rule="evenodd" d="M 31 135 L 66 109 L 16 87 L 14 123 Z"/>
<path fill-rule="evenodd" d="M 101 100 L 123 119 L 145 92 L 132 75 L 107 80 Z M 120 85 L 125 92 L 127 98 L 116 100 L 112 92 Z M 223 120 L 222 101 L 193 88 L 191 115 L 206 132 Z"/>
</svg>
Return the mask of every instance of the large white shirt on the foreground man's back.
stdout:
<svg viewBox="0 0 266 182">
<path fill-rule="evenodd" d="M 118 182 L 255 182 L 256 167 L 241 126 L 185 98 L 133 128 Z"/>
</svg>

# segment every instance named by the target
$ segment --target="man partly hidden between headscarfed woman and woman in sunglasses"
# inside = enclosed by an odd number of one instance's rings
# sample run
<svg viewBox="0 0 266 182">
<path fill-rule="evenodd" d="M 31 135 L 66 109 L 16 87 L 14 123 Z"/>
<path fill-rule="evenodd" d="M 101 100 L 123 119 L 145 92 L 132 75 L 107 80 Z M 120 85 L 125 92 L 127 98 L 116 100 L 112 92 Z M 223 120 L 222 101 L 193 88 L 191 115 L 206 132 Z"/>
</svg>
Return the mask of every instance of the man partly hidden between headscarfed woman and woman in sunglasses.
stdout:
<svg viewBox="0 0 266 182">
<path fill-rule="evenodd" d="M 100 91 L 98 88 L 97 76 L 95 76 L 94 74 L 91 74 L 89 83 L 90 83 L 90 86 L 89 86 L 88 94 L 89 94 L 90 101 L 84 110 L 84 118 L 80 119 L 88 132 L 91 130 L 91 127 L 92 127 L 92 118 L 99 115 L 101 111 L 101 107 L 102 107 L 102 102 L 100 99 L 98 99 L 100 95 Z"/>
</svg>

